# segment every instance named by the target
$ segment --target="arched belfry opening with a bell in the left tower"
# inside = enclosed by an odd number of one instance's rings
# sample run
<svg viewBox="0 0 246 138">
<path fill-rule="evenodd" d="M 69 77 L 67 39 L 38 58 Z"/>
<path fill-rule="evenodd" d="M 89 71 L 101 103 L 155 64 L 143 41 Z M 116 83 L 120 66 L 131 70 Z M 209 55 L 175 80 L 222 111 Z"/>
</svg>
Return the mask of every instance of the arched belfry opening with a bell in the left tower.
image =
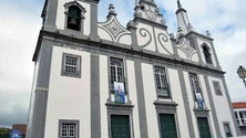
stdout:
<svg viewBox="0 0 246 138">
<path fill-rule="evenodd" d="M 64 4 L 65 7 L 65 28 L 82 31 L 85 9 L 76 1 Z"/>
</svg>

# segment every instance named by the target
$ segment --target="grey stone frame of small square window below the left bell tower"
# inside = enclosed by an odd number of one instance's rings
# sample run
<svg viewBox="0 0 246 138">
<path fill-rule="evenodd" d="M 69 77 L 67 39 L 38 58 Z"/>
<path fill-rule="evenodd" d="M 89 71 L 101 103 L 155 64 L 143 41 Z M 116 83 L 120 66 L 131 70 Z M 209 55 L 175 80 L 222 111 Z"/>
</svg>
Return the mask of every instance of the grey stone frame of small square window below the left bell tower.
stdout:
<svg viewBox="0 0 246 138">
<path fill-rule="evenodd" d="M 71 73 L 71 72 L 66 72 L 65 67 L 66 67 L 66 59 L 71 57 L 71 59 L 76 59 L 76 65 L 68 65 L 68 66 L 72 66 L 75 67 L 75 73 Z M 80 55 L 75 55 L 75 54 L 69 54 L 69 53 L 62 53 L 62 67 L 61 67 L 61 75 L 62 76 L 70 76 L 70 77 L 81 77 L 81 56 Z"/>
</svg>

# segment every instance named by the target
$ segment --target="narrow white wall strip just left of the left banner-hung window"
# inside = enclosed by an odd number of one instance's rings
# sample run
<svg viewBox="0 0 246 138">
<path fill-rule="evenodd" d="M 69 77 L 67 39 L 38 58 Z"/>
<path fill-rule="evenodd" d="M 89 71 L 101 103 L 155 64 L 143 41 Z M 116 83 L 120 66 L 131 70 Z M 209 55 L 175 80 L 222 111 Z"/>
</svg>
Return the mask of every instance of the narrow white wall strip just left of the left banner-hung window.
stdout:
<svg viewBox="0 0 246 138">
<path fill-rule="evenodd" d="M 107 67 L 107 56 L 100 55 L 100 109 L 102 138 L 109 138 L 107 110 L 105 106 L 110 92 Z"/>
</svg>

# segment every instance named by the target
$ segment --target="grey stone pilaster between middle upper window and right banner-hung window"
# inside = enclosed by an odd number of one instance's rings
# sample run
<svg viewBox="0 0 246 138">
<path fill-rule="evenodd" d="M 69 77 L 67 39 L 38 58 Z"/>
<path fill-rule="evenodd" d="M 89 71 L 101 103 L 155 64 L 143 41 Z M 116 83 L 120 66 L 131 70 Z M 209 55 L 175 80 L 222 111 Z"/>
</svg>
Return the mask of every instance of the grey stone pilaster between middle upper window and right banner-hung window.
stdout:
<svg viewBox="0 0 246 138">
<path fill-rule="evenodd" d="M 189 108 L 188 95 L 187 95 L 187 91 L 186 91 L 183 70 L 178 67 L 177 71 L 178 71 L 178 77 L 180 77 L 180 82 L 181 82 L 181 88 L 182 88 L 182 95 L 183 95 L 183 100 L 184 100 L 186 119 L 187 119 L 187 123 L 189 123 L 187 130 L 188 130 L 189 137 L 195 138 L 195 131 L 194 131 L 195 129 L 193 126 L 193 119 L 192 119 L 192 113 L 191 113 L 192 110 Z"/>
</svg>

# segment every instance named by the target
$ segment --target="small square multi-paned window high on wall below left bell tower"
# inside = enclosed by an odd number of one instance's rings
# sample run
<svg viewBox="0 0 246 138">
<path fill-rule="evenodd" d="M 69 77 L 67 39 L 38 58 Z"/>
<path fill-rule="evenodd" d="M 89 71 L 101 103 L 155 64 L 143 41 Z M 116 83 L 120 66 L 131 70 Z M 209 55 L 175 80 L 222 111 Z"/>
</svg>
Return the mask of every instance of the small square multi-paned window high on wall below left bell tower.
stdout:
<svg viewBox="0 0 246 138">
<path fill-rule="evenodd" d="M 63 53 L 62 60 L 62 75 L 80 77 L 81 74 L 81 57 Z"/>
</svg>

